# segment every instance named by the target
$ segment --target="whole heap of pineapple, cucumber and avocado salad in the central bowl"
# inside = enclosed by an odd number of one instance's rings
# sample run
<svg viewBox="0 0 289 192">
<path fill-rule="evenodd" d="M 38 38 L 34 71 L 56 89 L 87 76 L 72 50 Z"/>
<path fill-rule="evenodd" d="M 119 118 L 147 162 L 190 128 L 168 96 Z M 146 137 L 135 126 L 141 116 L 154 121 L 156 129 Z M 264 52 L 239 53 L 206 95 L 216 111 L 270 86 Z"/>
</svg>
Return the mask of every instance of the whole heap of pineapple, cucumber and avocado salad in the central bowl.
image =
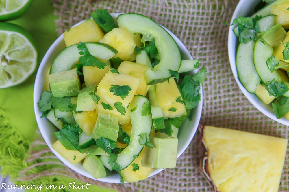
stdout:
<svg viewBox="0 0 289 192">
<path fill-rule="evenodd" d="M 64 32 L 38 102 L 59 131 L 52 148 L 94 178 L 137 182 L 174 168 L 178 131 L 201 99 L 206 69 L 182 60 L 173 37 L 140 14 L 106 10 Z"/>
</svg>

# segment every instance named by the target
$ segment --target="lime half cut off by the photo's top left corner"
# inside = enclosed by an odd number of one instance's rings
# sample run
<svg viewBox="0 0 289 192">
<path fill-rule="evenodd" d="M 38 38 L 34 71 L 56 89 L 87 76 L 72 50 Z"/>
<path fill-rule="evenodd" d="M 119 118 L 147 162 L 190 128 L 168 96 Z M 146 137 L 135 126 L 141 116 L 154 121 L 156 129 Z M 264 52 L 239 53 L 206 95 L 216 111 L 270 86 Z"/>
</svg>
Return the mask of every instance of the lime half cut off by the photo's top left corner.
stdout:
<svg viewBox="0 0 289 192">
<path fill-rule="evenodd" d="M 0 0 L 0 20 L 16 19 L 23 15 L 33 0 Z"/>
</svg>

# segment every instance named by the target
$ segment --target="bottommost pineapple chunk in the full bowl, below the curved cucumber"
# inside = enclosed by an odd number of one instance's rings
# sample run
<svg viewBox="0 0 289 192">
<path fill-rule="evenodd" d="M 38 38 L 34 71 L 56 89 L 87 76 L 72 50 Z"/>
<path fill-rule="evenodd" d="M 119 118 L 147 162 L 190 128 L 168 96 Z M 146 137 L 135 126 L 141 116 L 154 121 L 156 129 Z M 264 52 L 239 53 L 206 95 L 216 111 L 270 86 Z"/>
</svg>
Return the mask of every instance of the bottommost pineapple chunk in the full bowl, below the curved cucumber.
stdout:
<svg viewBox="0 0 289 192">
<path fill-rule="evenodd" d="M 153 170 L 149 167 L 143 167 L 141 164 L 142 161 L 142 152 L 138 156 L 138 158 L 134 159 L 132 162 L 137 164 L 139 166 L 139 169 L 136 171 L 133 171 L 133 166 L 130 164 L 127 168 L 120 171 L 121 176 L 123 176 L 123 180 L 125 182 L 138 182 L 140 180 L 146 179 Z"/>
</svg>

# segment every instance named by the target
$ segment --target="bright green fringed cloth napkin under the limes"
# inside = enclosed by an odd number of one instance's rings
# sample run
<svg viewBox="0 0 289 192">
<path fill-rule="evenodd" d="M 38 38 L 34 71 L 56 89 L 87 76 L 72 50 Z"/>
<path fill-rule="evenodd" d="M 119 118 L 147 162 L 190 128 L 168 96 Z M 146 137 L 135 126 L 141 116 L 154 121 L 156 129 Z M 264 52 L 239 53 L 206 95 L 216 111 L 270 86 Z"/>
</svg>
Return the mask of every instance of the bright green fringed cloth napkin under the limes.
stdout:
<svg viewBox="0 0 289 192">
<path fill-rule="evenodd" d="M 58 17 L 53 14 L 53 11 L 54 9 L 50 0 L 34 0 L 25 15 L 16 20 L 9 21 L 25 28 L 36 40 L 38 65 L 49 46 L 58 37 L 55 28 L 55 20 Z M 35 131 L 38 129 L 33 108 L 33 88 L 36 72 L 37 70 L 29 79 L 20 85 L 0 89 L 1 174 L 2 176 L 9 175 L 12 181 L 16 183 L 18 172 L 29 166 L 25 159 L 29 157 L 27 154 L 29 145 L 34 141 Z M 46 166 L 46 168 L 51 167 Z M 35 172 L 33 173 L 35 174 Z M 75 181 L 73 178 L 64 176 L 57 177 L 57 179 L 54 177 L 55 176 L 46 177 L 44 180 L 42 179 L 42 182 L 46 185 L 48 180 L 49 182 L 53 180 L 54 182 L 57 181 L 56 184 L 58 185 L 68 185 Z M 25 183 L 22 182 L 22 184 Z M 76 189 L 74 191 L 81 190 Z M 83 191 L 112 192 L 115 190 L 90 185 L 89 189 L 84 189 Z"/>
</svg>

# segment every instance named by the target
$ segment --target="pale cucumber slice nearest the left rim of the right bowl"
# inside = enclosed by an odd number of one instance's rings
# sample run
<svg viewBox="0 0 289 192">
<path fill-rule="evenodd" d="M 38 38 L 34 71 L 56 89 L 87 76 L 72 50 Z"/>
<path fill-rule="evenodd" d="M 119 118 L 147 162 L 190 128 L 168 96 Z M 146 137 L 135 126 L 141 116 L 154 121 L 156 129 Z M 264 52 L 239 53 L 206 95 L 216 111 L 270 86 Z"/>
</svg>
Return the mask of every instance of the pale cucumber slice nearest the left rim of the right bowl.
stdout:
<svg viewBox="0 0 289 192">
<path fill-rule="evenodd" d="M 236 69 L 240 83 L 249 93 L 255 93 L 260 77 L 255 69 L 253 61 L 253 49 L 255 42 L 240 43 L 236 54 Z"/>
</svg>

